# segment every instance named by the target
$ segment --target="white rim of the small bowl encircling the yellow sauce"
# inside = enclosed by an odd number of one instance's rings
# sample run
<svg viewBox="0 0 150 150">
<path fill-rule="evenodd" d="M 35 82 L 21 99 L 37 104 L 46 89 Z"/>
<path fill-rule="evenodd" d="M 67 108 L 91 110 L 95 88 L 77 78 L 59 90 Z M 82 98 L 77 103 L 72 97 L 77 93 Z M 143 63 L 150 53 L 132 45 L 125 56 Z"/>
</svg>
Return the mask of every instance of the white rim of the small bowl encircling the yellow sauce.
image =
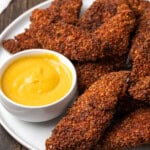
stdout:
<svg viewBox="0 0 150 150">
<path fill-rule="evenodd" d="M 8 68 L 8 66 L 15 60 L 25 57 L 25 56 L 31 56 L 32 55 L 38 55 L 38 54 L 53 54 L 55 56 L 58 57 L 58 59 L 64 63 L 71 71 L 72 73 L 72 84 L 70 89 L 68 90 L 68 92 L 60 99 L 56 100 L 55 102 L 52 102 L 50 104 L 46 104 L 46 105 L 41 105 L 41 106 L 28 106 L 28 105 L 23 105 L 23 104 L 19 104 L 13 100 L 11 100 L 8 96 L 6 96 L 6 94 L 4 93 L 4 91 L 2 90 L 2 85 L 1 85 L 1 79 L 3 76 L 3 73 L 5 72 L 5 70 Z M 67 62 L 65 63 L 64 62 Z M 71 69 L 72 68 L 72 69 Z M 75 91 L 74 91 L 75 90 Z M 58 53 L 54 50 L 48 50 L 48 49 L 25 49 L 21 52 L 17 52 L 16 54 L 11 55 L 1 66 L 0 66 L 0 95 L 8 102 L 11 103 L 14 106 L 20 107 L 20 108 L 27 108 L 27 109 L 39 109 L 39 108 L 47 108 L 47 107 L 51 107 L 54 106 L 56 104 L 58 104 L 59 102 L 66 100 L 67 97 L 69 97 L 71 95 L 71 93 L 76 93 L 77 92 L 77 73 L 76 73 L 76 69 L 73 65 L 73 63 L 64 55 L 62 55 L 61 53 Z M 74 95 L 73 95 L 74 96 Z M 70 99 L 70 101 L 73 99 L 73 97 Z"/>
</svg>

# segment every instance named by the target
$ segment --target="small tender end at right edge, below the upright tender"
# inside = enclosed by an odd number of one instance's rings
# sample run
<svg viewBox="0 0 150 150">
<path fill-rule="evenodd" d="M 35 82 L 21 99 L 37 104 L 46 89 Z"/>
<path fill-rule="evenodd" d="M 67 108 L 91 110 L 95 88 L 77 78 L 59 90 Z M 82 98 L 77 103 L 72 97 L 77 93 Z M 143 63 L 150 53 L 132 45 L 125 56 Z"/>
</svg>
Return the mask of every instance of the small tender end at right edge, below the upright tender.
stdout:
<svg viewBox="0 0 150 150">
<path fill-rule="evenodd" d="M 150 76 L 140 78 L 129 88 L 129 93 L 134 99 L 150 104 Z"/>
</svg>

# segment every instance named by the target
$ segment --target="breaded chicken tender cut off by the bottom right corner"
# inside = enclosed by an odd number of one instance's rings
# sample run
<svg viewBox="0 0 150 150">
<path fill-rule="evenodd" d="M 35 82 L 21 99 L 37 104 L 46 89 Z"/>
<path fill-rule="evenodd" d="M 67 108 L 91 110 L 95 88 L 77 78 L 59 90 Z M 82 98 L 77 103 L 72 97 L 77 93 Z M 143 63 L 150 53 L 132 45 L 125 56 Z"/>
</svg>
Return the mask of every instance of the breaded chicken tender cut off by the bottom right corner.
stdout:
<svg viewBox="0 0 150 150">
<path fill-rule="evenodd" d="M 150 108 L 138 109 L 112 125 L 95 150 L 121 150 L 150 143 Z"/>
</svg>

